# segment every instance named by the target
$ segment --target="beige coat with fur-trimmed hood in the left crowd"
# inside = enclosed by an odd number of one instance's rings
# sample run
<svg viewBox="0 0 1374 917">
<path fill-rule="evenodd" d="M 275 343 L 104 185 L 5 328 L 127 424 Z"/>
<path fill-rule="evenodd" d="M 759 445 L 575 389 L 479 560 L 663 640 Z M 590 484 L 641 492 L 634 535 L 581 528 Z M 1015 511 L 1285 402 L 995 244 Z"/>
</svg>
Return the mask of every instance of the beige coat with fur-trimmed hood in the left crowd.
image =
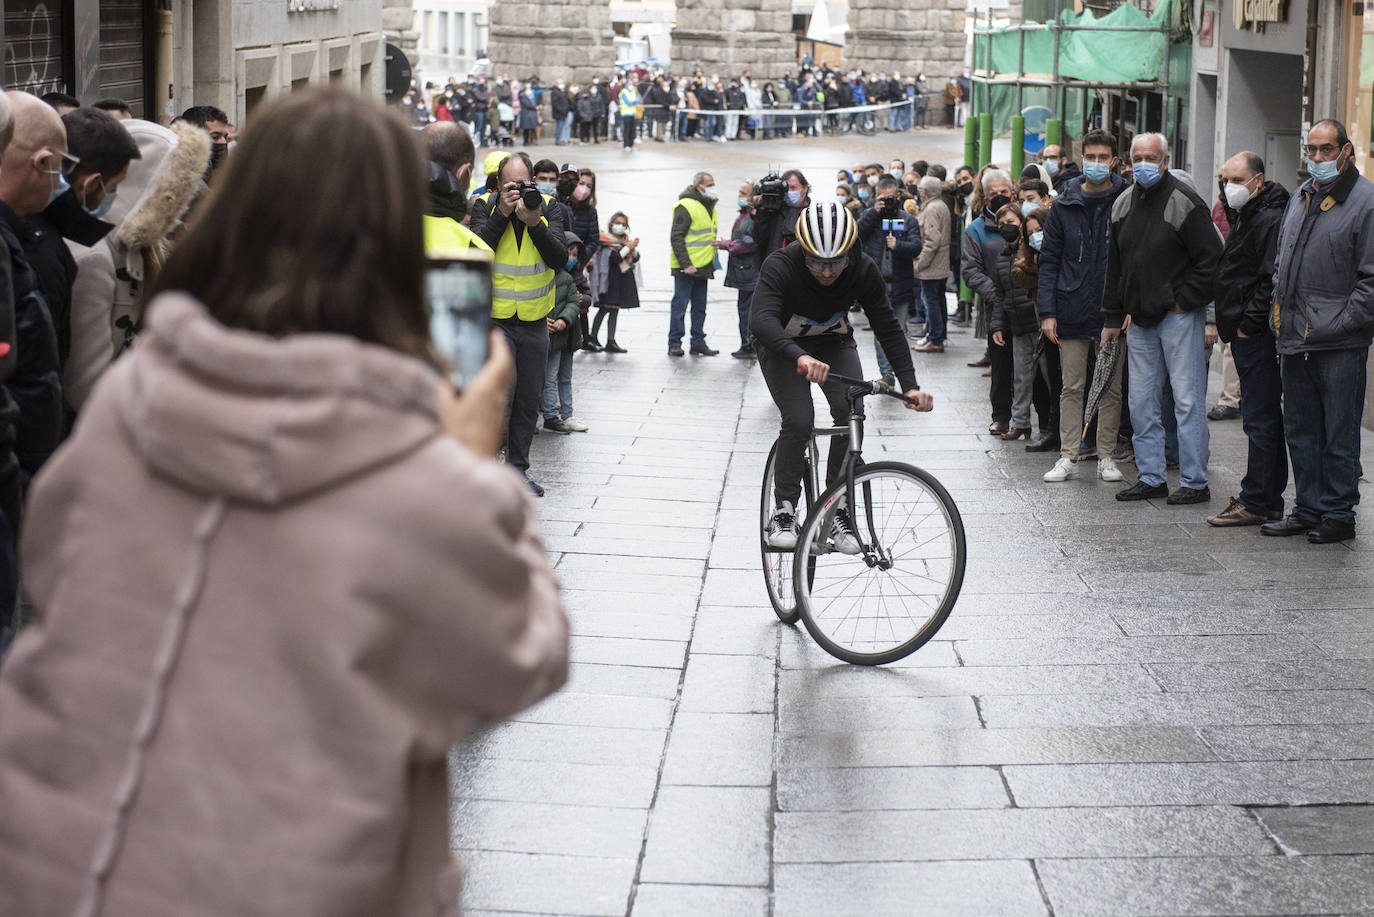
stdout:
<svg viewBox="0 0 1374 917">
<path fill-rule="evenodd" d="M 100 375 L 133 344 L 142 289 L 162 264 L 168 239 L 205 187 L 210 136 L 190 124 L 164 128 L 129 120 L 139 144 L 120 197 L 106 219 L 115 230 L 93 246 L 67 242 L 77 261 L 71 287 L 71 356 L 63 373 L 67 404 L 77 412 Z"/>
</svg>

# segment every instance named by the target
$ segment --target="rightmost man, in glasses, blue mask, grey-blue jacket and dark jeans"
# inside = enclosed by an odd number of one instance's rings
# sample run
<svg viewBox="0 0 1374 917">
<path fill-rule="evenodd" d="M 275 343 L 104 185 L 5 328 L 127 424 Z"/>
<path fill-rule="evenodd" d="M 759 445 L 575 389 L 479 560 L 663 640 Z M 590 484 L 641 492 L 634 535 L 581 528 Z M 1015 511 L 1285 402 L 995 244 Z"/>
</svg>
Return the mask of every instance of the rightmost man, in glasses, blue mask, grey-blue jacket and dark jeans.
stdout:
<svg viewBox="0 0 1374 917">
<path fill-rule="evenodd" d="M 1315 544 L 1355 538 L 1360 502 L 1360 412 L 1374 340 L 1374 184 L 1355 166 L 1340 121 L 1308 131 L 1304 181 L 1279 227 L 1274 309 L 1283 374 L 1283 433 L 1293 513 L 1264 535 Z"/>
</svg>

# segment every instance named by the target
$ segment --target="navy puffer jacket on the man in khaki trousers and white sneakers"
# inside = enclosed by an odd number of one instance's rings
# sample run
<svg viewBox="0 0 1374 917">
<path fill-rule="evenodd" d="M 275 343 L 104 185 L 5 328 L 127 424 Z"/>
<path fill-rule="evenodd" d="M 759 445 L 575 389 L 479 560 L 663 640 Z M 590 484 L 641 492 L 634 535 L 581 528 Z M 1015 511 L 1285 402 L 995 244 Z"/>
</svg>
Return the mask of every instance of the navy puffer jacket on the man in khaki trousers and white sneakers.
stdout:
<svg viewBox="0 0 1374 917">
<path fill-rule="evenodd" d="M 1107 282 L 1107 243 L 1112 203 L 1129 186 L 1112 176 L 1109 199 L 1096 219 L 1083 198 L 1083 181 L 1070 181 L 1054 199 L 1040 246 L 1040 318 L 1055 319 L 1065 341 L 1094 341 L 1102 335 L 1102 293 Z"/>
</svg>

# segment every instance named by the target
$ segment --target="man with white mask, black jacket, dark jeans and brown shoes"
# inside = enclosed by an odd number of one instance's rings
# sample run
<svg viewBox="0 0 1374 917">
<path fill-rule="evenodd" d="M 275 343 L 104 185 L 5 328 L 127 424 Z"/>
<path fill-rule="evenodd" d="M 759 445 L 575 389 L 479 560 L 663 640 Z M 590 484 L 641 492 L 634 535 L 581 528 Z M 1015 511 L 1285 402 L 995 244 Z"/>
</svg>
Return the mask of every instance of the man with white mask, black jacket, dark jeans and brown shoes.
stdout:
<svg viewBox="0 0 1374 917">
<path fill-rule="evenodd" d="M 1221 166 L 1221 198 L 1231 235 L 1216 272 L 1216 330 L 1231 345 L 1241 377 L 1241 422 L 1250 440 L 1241 495 L 1208 518 L 1210 525 L 1261 525 L 1283 518 L 1287 441 L 1283 437 L 1283 382 L 1268 329 L 1274 265 L 1287 190 L 1264 179 L 1264 159 L 1237 153 Z"/>
</svg>

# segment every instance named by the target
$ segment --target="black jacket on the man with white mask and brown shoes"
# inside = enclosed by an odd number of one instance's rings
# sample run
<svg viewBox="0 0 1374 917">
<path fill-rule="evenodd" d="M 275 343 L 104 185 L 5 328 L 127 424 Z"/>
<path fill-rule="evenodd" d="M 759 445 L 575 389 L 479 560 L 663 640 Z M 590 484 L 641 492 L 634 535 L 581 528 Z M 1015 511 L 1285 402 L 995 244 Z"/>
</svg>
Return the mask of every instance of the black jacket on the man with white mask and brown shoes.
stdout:
<svg viewBox="0 0 1374 917">
<path fill-rule="evenodd" d="M 1226 198 L 1220 198 L 1224 201 Z M 1274 304 L 1274 263 L 1278 260 L 1279 224 L 1289 192 L 1278 181 L 1265 181 L 1241 212 L 1226 214 L 1231 231 L 1216 269 L 1216 333 L 1234 341 L 1264 334 Z"/>
</svg>

